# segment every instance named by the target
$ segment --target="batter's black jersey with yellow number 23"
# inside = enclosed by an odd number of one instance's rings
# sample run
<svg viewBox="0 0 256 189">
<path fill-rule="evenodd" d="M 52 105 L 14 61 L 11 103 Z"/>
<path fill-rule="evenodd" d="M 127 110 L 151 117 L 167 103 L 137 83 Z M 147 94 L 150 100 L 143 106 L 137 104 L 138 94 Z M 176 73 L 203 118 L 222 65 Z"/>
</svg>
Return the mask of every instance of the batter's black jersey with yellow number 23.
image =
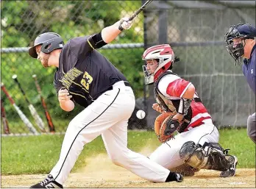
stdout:
<svg viewBox="0 0 256 189">
<path fill-rule="evenodd" d="M 88 107 L 115 82 L 127 81 L 90 42 L 90 36 L 68 40 L 60 53 L 60 64 L 54 74 L 54 87 L 68 89 L 73 100 Z"/>
</svg>

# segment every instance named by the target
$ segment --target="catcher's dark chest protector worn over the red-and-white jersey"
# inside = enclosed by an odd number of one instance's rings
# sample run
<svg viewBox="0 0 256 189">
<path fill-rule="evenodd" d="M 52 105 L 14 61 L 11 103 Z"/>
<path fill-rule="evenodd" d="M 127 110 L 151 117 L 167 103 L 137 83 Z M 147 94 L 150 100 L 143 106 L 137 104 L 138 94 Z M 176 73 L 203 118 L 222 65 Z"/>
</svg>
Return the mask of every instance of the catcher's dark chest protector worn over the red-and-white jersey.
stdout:
<svg viewBox="0 0 256 189">
<path fill-rule="evenodd" d="M 171 113 L 177 113 L 177 110 L 179 108 L 179 101 L 180 100 L 171 100 L 171 99 L 167 99 L 166 96 L 164 96 L 162 93 L 160 93 L 160 91 L 158 90 L 157 86 L 158 86 L 158 83 L 160 81 L 160 79 L 163 78 L 163 76 L 166 76 L 168 74 L 173 74 L 173 75 L 176 75 L 177 74 L 174 74 L 173 72 L 171 71 L 166 71 L 166 73 L 162 74 L 156 82 L 154 82 L 154 99 L 156 99 L 157 101 L 157 104 L 159 104 L 159 106 L 166 112 L 171 112 Z M 193 99 L 194 101 L 195 99 Z M 196 102 L 197 101 L 200 101 L 201 100 L 198 98 L 196 98 Z M 180 130 L 179 132 L 183 132 L 187 127 L 188 125 L 190 124 L 191 122 L 191 118 L 192 118 L 192 109 L 191 107 L 188 108 L 188 113 L 184 116 L 184 123 L 182 124 L 182 126 L 180 127 Z"/>
</svg>

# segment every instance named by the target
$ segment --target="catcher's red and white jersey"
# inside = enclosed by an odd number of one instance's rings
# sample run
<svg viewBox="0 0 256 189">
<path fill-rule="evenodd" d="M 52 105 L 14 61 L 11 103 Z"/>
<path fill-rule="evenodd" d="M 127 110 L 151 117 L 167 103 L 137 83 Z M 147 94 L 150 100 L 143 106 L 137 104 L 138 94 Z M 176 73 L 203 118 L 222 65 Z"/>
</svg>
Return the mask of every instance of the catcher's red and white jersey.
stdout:
<svg viewBox="0 0 256 189">
<path fill-rule="evenodd" d="M 162 93 L 166 99 L 169 100 L 179 100 L 181 96 L 185 93 L 185 90 L 191 85 L 191 82 L 180 78 L 176 74 L 166 74 L 158 82 L 157 89 Z M 193 96 L 198 98 L 196 93 Z M 207 113 L 205 106 L 202 102 L 192 101 L 192 118 L 190 124 L 185 129 L 185 131 L 192 129 L 193 127 L 202 124 L 205 119 L 211 118 L 210 114 Z"/>
</svg>

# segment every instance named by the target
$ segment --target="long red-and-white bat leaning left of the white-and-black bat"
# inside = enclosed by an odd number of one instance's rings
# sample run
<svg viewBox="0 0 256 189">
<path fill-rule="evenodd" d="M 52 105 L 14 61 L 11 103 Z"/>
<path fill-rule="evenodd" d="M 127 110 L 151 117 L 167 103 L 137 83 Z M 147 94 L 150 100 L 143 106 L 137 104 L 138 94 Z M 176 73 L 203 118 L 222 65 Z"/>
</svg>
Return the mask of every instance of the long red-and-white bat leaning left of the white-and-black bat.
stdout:
<svg viewBox="0 0 256 189">
<path fill-rule="evenodd" d="M 7 98 L 9 99 L 10 103 L 13 105 L 13 107 L 17 111 L 18 115 L 20 116 L 21 120 L 24 122 L 26 127 L 29 129 L 29 131 L 32 132 L 35 135 L 38 135 L 38 132 L 35 129 L 35 127 L 31 124 L 29 119 L 26 118 L 26 115 L 24 115 L 24 113 L 21 111 L 21 109 L 15 104 L 13 98 L 9 95 L 9 93 L 7 92 L 7 89 L 4 86 L 4 83 L 2 83 L 2 82 L 1 82 L 1 90 L 4 91 L 4 93 L 6 94 Z"/>
</svg>

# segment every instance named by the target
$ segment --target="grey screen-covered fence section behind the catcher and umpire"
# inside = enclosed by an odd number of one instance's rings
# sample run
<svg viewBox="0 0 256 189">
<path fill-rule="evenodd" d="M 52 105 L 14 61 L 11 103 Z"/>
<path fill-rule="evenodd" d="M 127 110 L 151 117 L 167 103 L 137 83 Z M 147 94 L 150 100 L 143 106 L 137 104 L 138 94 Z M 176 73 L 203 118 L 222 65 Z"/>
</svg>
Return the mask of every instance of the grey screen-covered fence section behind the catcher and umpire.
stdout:
<svg viewBox="0 0 256 189">
<path fill-rule="evenodd" d="M 153 1 L 145 15 L 145 45 L 171 44 L 180 59 L 173 71 L 195 85 L 221 127 L 246 126 L 255 113 L 255 94 L 224 43 L 225 32 L 239 23 L 255 26 L 255 1 Z M 148 125 L 153 125 L 152 89 L 147 96 Z"/>
</svg>

